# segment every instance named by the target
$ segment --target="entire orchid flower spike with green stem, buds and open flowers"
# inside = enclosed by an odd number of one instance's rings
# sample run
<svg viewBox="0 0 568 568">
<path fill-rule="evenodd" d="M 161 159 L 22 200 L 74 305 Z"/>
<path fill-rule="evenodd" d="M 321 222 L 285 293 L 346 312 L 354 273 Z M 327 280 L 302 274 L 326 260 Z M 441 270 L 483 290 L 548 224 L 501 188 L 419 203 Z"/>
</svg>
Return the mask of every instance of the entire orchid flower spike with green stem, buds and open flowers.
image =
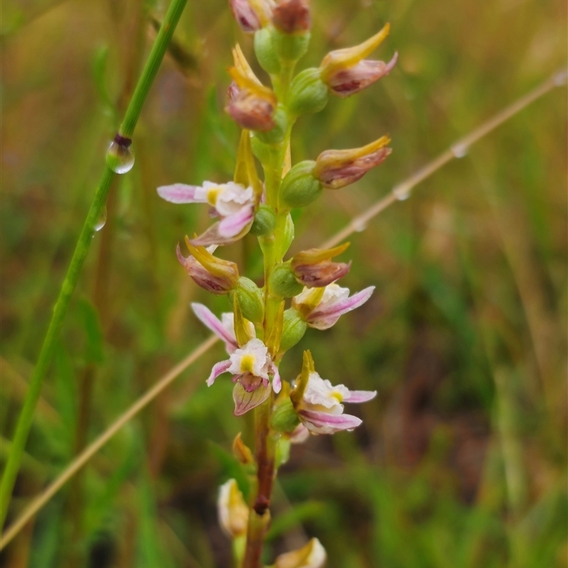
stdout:
<svg viewBox="0 0 568 568">
<path fill-rule="evenodd" d="M 235 415 L 255 409 L 255 451 L 239 434 L 234 453 L 251 474 L 249 503 L 234 479 L 219 494 L 219 522 L 234 540 L 236 565 L 260 568 L 264 537 L 270 522 L 273 479 L 288 459 L 290 444 L 310 435 L 353 430 L 358 417 L 344 413 L 343 403 L 364 403 L 376 391 L 351 391 L 334 386 L 315 370 L 304 351 L 295 381 L 280 377 L 286 351 L 300 342 L 307 327 L 328 329 L 346 312 L 363 305 L 373 287 L 350 294 L 337 280 L 351 263 L 332 259 L 349 244 L 334 249 L 309 249 L 285 260 L 294 238 L 291 209 L 306 207 L 324 189 L 339 189 L 363 177 L 391 153 L 388 136 L 349 150 L 327 150 L 316 160 L 290 164 L 290 133 L 304 114 L 321 111 L 329 95 L 349 97 L 390 72 L 390 62 L 366 59 L 386 38 L 389 25 L 356 47 L 328 53 L 320 67 L 295 75 L 295 65 L 310 40 L 307 0 L 229 0 L 242 31 L 254 35 L 258 62 L 271 77 L 271 87 L 254 74 L 239 45 L 229 70 L 226 112 L 241 126 L 234 179 L 203 182 L 200 187 L 176 183 L 158 187 L 158 194 L 176 204 L 202 203 L 218 220 L 203 234 L 185 237 L 189 256 L 178 246 L 178 260 L 205 290 L 227 295 L 231 311 L 220 319 L 202 304 L 195 315 L 225 345 L 228 359 L 219 361 L 207 385 L 224 373 L 234 382 Z M 263 169 L 259 178 L 256 160 Z M 239 273 L 236 263 L 215 256 L 217 247 L 251 233 L 263 253 L 264 281 L 259 287 Z M 288 307 L 287 307 L 288 305 Z M 275 568 L 323 566 L 325 551 L 317 539 L 300 550 L 280 555 Z"/>
</svg>

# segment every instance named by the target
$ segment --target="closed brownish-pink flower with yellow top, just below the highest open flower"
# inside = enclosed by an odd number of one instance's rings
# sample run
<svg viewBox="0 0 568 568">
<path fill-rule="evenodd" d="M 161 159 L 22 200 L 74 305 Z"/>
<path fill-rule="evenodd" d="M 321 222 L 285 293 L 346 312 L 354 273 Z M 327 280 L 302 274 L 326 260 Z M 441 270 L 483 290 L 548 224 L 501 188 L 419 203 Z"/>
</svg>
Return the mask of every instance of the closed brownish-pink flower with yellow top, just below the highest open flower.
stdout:
<svg viewBox="0 0 568 568">
<path fill-rule="evenodd" d="M 191 255 L 185 258 L 178 244 L 176 249 L 178 261 L 197 285 L 217 295 L 228 294 L 236 287 L 239 281 L 239 268 L 234 262 L 213 256 L 203 246 L 193 246 L 187 236 L 185 244 Z"/>
</svg>

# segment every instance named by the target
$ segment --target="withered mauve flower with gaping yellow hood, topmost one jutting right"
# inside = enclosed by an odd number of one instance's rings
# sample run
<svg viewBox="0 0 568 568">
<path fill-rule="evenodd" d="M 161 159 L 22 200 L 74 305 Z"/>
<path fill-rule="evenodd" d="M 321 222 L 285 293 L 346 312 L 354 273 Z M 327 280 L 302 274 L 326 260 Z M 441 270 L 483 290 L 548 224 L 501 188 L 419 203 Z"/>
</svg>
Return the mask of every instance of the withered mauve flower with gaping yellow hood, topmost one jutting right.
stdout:
<svg viewBox="0 0 568 568">
<path fill-rule="evenodd" d="M 388 63 L 365 59 L 383 42 L 390 28 L 390 24 L 387 23 L 381 31 L 361 45 L 335 50 L 325 56 L 320 65 L 322 80 L 333 94 L 342 98 L 349 97 L 393 70 L 398 60 L 398 53 L 395 53 Z"/>
</svg>

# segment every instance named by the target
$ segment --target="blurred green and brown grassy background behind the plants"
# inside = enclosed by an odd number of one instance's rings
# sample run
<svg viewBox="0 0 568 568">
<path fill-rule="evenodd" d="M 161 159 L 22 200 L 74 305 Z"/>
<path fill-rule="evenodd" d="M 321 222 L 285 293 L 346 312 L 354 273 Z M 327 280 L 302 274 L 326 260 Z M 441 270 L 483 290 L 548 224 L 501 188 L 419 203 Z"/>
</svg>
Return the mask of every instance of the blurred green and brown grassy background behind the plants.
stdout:
<svg viewBox="0 0 568 568">
<path fill-rule="evenodd" d="M 167 3 L 2 2 L 1 459 L 60 283 Z M 386 21 L 400 59 L 356 97 L 301 119 L 293 162 L 390 133 L 393 154 L 297 218 L 317 246 L 457 138 L 566 65 L 556 0 L 314 0 L 310 53 Z M 190 0 L 116 179 L 45 381 L 9 520 L 207 332 L 208 297 L 175 244 L 209 223 L 155 187 L 227 180 L 230 48 L 251 38 L 225 0 Z M 255 67 L 258 69 L 258 67 Z M 329 568 L 565 567 L 567 97 L 555 89 L 351 238 L 342 285 L 371 301 L 308 346 L 333 383 L 378 390 L 351 433 L 294 447 L 278 477 L 267 559 L 318 537 Z M 255 239 L 226 249 L 261 276 Z M 242 476 L 217 345 L 125 427 L 0 555 L 1 567 L 229 567 L 217 487 Z"/>
</svg>

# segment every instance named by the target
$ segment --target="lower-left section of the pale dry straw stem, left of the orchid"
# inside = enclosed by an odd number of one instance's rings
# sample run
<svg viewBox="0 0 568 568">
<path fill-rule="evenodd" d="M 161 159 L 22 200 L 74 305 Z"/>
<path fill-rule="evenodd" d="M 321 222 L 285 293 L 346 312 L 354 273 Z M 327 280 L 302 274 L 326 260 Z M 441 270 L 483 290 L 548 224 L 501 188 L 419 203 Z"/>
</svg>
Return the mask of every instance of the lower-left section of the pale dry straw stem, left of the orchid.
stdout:
<svg viewBox="0 0 568 568">
<path fill-rule="evenodd" d="M 124 414 L 122 414 L 118 420 L 116 420 L 107 430 L 105 430 L 102 435 L 100 435 L 92 444 L 90 444 L 87 448 L 84 449 L 70 464 L 70 466 L 62 472 L 62 474 L 55 479 L 53 483 L 48 486 L 40 496 L 36 497 L 26 509 L 23 510 L 23 513 L 18 517 L 15 523 L 4 532 L 0 540 L 0 550 L 2 550 L 12 539 L 15 537 L 18 532 L 26 525 L 28 520 L 30 520 L 35 513 L 42 508 L 45 503 L 47 503 L 50 498 L 52 498 L 55 493 L 57 493 L 62 486 L 64 486 L 67 481 L 69 481 L 72 476 L 74 476 L 77 471 L 79 471 L 84 464 L 91 459 L 94 454 L 96 454 L 99 449 L 101 449 L 104 444 L 106 444 L 111 437 L 113 437 L 116 432 L 118 432 L 121 427 L 123 427 L 126 422 L 129 422 L 131 418 L 136 416 L 143 408 L 148 406 L 166 387 L 170 385 L 177 378 L 187 367 L 191 364 L 195 363 L 197 359 L 202 356 L 205 351 L 210 349 L 215 343 L 217 343 L 219 339 L 212 335 L 209 339 L 206 339 L 200 346 L 197 347 L 194 351 L 192 351 L 183 361 L 178 363 L 174 368 L 170 369 L 168 373 L 160 378 L 160 380 L 155 383 L 155 385 L 146 392 L 146 394 L 142 395 L 136 403 L 134 403 Z"/>
</svg>

